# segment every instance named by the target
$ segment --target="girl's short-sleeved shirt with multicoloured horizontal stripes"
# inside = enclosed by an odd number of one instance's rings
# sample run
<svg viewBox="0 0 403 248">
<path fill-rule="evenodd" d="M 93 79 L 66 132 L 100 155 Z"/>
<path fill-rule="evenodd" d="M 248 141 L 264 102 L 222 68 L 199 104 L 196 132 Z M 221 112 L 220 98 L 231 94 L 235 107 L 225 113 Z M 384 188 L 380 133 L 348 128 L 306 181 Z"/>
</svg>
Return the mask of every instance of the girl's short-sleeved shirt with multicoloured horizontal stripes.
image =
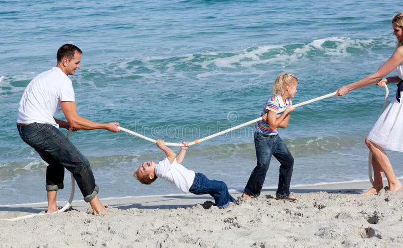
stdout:
<svg viewBox="0 0 403 248">
<path fill-rule="evenodd" d="M 275 113 L 277 113 L 276 119 L 278 119 L 283 114 L 283 111 L 291 105 L 292 101 L 290 98 L 287 98 L 286 103 L 284 103 L 281 95 L 273 95 L 272 97 L 270 97 L 270 99 L 267 100 L 266 105 L 264 106 L 260 116 L 263 116 L 268 111 L 274 111 Z M 279 133 L 278 129 L 270 130 L 270 127 L 265 120 L 257 121 L 256 128 L 258 132 L 265 135 L 277 135 Z"/>
</svg>

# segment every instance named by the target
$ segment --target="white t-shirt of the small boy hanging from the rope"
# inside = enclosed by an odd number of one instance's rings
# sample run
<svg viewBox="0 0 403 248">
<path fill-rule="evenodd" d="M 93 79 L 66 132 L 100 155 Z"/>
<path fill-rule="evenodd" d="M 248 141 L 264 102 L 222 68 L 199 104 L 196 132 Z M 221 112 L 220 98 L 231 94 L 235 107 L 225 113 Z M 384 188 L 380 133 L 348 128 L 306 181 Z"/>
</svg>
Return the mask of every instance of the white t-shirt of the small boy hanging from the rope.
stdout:
<svg viewBox="0 0 403 248">
<path fill-rule="evenodd" d="M 174 183 L 183 193 L 188 193 L 193 184 L 195 173 L 193 170 L 186 169 L 183 165 L 176 162 L 176 158 L 169 162 L 168 158 L 158 162 L 155 167 L 155 174 L 162 179 Z"/>
</svg>

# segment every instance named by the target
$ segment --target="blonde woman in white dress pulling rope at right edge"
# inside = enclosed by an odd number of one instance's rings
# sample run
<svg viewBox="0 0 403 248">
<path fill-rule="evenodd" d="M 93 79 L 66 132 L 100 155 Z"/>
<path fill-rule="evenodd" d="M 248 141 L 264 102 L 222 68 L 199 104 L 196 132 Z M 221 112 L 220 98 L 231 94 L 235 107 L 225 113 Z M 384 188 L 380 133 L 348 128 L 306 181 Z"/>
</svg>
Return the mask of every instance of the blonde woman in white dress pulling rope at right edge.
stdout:
<svg viewBox="0 0 403 248">
<path fill-rule="evenodd" d="M 403 102 L 400 102 L 400 94 L 403 94 L 401 93 L 403 91 L 403 12 L 392 18 L 392 28 L 393 35 L 397 38 L 396 50 L 392 56 L 374 74 L 339 88 L 335 94 L 335 96 L 344 96 L 351 90 L 374 82 L 378 82 L 376 85 L 379 87 L 398 83 L 396 97 L 383 111 L 365 139 L 365 144 L 372 152 L 374 185 L 362 195 L 377 194 L 383 188 L 382 172 L 385 172 L 388 180 L 389 191 L 396 193 L 402 188 L 384 149 L 403 152 Z M 397 77 L 383 78 L 395 68 Z"/>
</svg>

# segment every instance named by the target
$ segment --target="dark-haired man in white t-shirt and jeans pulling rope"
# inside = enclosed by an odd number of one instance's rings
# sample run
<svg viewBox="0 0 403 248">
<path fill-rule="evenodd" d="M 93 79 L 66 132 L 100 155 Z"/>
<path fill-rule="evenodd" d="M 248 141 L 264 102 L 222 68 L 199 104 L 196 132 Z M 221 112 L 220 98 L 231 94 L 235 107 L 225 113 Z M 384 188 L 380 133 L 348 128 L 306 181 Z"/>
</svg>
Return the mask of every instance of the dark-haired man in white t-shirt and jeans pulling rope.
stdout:
<svg viewBox="0 0 403 248">
<path fill-rule="evenodd" d="M 18 106 L 17 128 L 25 143 L 38 152 L 46 167 L 47 213 L 57 211 L 57 190 L 63 189 L 64 168 L 74 178 L 94 214 L 110 212 L 98 198 L 98 185 L 88 159 L 58 128 L 77 130 L 105 129 L 116 133 L 119 123 L 96 123 L 77 113 L 74 89 L 68 75 L 80 69 L 82 51 L 64 44 L 57 51 L 57 66 L 36 76 L 27 86 Z M 67 121 L 53 117 L 63 110 Z"/>
</svg>

